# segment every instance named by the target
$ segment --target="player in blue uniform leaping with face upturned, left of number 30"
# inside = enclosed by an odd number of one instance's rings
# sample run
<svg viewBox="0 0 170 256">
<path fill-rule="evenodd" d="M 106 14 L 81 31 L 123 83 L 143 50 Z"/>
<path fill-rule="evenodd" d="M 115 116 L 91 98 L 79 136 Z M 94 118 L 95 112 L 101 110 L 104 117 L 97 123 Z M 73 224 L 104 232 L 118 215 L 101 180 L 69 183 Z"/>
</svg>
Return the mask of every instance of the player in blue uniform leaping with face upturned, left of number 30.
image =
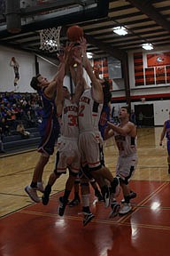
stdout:
<svg viewBox="0 0 170 256">
<path fill-rule="evenodd" d="M 61 63 L 58 69 L 58 74 L 49 82 L 41 75 L 34 76 L 31 80 L 31 87 L 34 88 L 42 98 L 42 124 L 40 124 L 41 143 L 38 147 L 38 152 L 41 156 L 35 165 L 33 179 L 30 185 L 25 188 L 27 195 L 39 203 L 40 199 L 37 196 L 37 189 L 43 193 L 42 187 L 42 172 L 45 165 L 49 162 L 50 156 L 54 152 L 55 142 L 58 139 L 59 124 L 56 112 L 55 97 L 57 84 L 63 84 L 63 72 L 65 71 L 65 63 Z"/>
</svg>

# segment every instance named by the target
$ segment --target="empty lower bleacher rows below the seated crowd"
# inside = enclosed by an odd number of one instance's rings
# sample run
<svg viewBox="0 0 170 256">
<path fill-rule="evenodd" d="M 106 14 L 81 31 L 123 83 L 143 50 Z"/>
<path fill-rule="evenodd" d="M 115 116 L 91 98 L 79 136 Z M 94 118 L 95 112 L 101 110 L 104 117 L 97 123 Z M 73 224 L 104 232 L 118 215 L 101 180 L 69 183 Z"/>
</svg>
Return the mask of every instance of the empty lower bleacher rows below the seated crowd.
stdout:
<svg viewBox="0 0 170 256">
<path fill-rule="evenodd" d="M 28 149 L 37 148 L 40 142 L 40 133 L 37 127 L 27 128 L 30 132 L 29 138 L 23 139 L 22 135 L 12 132 L 12 135 L 4 136 L 4 151 L 5 153 L 16 153 Z"/>
</svg>

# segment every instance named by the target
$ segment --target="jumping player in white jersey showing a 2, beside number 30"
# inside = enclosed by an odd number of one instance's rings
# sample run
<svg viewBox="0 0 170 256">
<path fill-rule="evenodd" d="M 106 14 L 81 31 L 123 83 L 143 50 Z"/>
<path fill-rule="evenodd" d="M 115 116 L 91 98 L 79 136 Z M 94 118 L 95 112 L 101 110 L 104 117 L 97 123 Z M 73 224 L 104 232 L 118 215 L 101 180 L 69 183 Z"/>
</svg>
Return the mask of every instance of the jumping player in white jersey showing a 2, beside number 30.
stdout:
<svg viewBox="0 0 170 256">
<path fill-rule="evenodd" d="M 93 68 L 88 60 L 86 53 L 86 41 L 81 39 L 83 66 L 86 69 L 92 86 L 85 84 L 84 92 L 81 94 L 79 101 L 79 148 L 81 151 L 81 167 L 83 172 L 90 174 L 97 180 L 101 191 L 104 195 L 106 206 L 109 205 L 109 189 L 105 185 L 105 180 L 111 183 L 112 192 L 115 192 L 117 180 L 112 176 L 108 168 L 100 163 L 99 143 L 101 142 L 101 134 L 98 130 L 98 122 L 100 119 L 101 110 L 103 108 L 104 94 L 102 85 L 97 80 L 93 73 Z M 88 176 L 88 175 L 87 175 Z M 84 213 L 83 225 L 87 225 L 94 215 L 89 210 L 89 180 L 86 176 L 81 177 L 81 197 L 82 197 L 82 212 Z"/>
</svg>

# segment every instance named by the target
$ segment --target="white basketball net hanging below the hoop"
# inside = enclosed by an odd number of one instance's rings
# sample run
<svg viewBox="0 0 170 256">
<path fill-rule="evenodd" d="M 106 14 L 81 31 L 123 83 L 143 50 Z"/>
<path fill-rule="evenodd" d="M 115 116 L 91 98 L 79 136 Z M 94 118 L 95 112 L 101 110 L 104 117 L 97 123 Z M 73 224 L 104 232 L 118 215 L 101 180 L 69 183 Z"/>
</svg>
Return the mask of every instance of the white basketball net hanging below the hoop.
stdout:
<svg viewBox="0 0 170 256">
<path fill-rule="evenodd" d="M 59 35 L 61 27 L 46 28 L 40 31 L 40 49 L 48 52 L 57 52 L 59 50 Z"/>
</svg>

